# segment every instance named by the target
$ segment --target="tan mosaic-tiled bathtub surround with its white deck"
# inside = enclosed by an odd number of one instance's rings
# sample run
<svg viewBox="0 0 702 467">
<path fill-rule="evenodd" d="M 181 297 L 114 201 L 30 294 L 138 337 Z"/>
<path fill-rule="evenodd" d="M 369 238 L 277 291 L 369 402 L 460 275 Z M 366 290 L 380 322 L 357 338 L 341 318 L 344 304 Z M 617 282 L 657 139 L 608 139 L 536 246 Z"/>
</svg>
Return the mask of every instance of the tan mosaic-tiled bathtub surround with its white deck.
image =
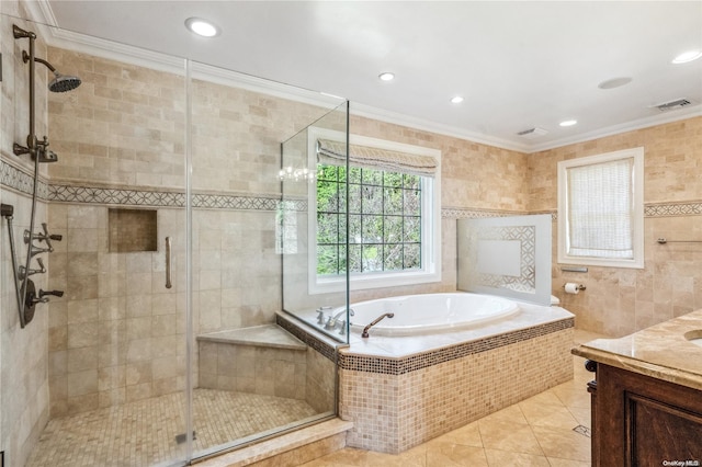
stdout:
<svg viewBox="0 0 702 467">
<path fill-rule="evenodd" d="M 454 294 L 439 295 L 433 298 Z M 338 351 L 339 417 L 353 422 L 347 444 L 397 454 L 571 379 L 574 316 L 557 306 L 512 304 L 517 311 L 500 306 L 490 319 L 460 328 L 432 323 L 423 334 L 384 332 L 381 324 L 392 324 L 386 318 L 369 338 L 353 330 L 378 309 L 363 315 L 363 304 L 352 304 L 350 345 Z M 419 312 L 439 315 L 431 305 Z M 324 328 L 312 314 L 305 320 L 316 328 L 312 333 Z"/>
</svg>

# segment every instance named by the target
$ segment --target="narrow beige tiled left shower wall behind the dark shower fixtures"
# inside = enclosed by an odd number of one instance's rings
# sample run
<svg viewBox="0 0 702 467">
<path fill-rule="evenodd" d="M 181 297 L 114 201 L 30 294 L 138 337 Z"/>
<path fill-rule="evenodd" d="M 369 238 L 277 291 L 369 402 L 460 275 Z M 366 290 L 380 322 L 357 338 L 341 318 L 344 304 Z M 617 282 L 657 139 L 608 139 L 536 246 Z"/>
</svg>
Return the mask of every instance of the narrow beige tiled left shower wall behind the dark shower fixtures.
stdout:
<svg viewBox="0 0 702 467">
<path fill-rule="evenodd" d="M 0 2 L 0 53 L 2 54 L 2 81 L 0 88 L 0 157 L 2 170 L 0 178 L 3 186 L 0 201 L 14 206 L 14 239 L 18 243 L 18 260 L 24 264 L 26 246 L 22 240 L 24 229 L 30 228 L 32 182 L 23 171 L 33 170 L 27 156 L 12 153 L 12 144 L 26 144 L 29 134 L 29 68 L 22 61 L 22 49 L 29 46 L 27 39 L 15 41 L 12 24 L 31 29 L 18 18 L 24 16 L 21 4 L 15 1 Z M 14 16 L 11 18 L 10 15 Z M 43 57 L 46 47 L 36 43 L 36 55 Z M 41 138 L 46 134 L 46 76 L 36 77 L 35 89 L 36 122 L 35 132 Z M 42 168 L 46 173 L 46 168 Z M 8 186 L 16 190 L 9 190 Z M 46 203 L 39 200 L 35 223 L 37 230 L 46 221 Z M 4 451 L 5 465 L 24 465 L 32 448 L 48 420 L 49 387 L 46 377 L 48 352 L 46 330 L 48 316 L 45 308 L 38 306 L 34 320 L 20 328 L 13 269 L 10 254 L 8 225 L 0 219 L 0 451 Z M 46 254 L 39 255 L 48 264 Z M 32 267 L 36 267 L 32 263 Z M 55 288 L 47 281 L 47 274 L 32 276 L 37 288 Z"/>
</svg>

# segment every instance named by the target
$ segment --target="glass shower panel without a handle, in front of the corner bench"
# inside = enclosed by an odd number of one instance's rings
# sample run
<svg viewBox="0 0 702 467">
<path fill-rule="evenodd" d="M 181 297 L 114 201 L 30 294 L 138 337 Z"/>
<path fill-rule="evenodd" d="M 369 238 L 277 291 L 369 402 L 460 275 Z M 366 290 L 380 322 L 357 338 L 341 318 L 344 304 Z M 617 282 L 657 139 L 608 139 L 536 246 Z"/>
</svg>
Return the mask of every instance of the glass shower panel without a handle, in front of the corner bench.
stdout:
<svg viewBox="0 0 702 467">
<path fill-rule="evenodd" d="M 279 242 L 287 203 L 281 202 L 280 141 L 329 106 L 308 103 L 320 101 L 317 93 L 301 100 L 302 90 L 278 84 L 269 93 L 270 84 L 247 80 L 193 64 L 195 457 L 335 413 L 333 363 L 276 323 L 287 281 Z M 298 248 L 305 241 L 297 239 Z"/>
</svg>

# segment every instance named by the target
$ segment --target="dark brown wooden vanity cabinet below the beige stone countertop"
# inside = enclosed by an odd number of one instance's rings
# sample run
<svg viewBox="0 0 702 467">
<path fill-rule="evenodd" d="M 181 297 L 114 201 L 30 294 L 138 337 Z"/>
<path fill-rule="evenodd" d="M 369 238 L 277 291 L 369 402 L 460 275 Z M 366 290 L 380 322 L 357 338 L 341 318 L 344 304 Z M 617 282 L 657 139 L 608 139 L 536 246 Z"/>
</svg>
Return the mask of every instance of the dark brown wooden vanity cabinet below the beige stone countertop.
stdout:
<svg viewBox="0 0 702 467">
<path fill-rule="evenodd" d="M 702 466 L 702 391 L 602 363 L 586 367 L 597 374 L 588 385 L 593 466 Z"/>
</svg>

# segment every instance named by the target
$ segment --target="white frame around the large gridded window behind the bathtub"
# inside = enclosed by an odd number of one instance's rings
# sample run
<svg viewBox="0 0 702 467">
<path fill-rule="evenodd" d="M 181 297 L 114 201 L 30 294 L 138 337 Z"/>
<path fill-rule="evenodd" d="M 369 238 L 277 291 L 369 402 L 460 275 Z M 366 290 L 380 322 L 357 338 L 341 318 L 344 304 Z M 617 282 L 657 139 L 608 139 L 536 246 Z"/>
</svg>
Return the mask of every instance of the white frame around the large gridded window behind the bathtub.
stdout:
<svg viewBox="0 0 702 467">
<path fill-rule="evenodd" d="M 307 134 L 307 163 L 317 167 L 317 140 L 346 140 L 342 132 L 310 127 Z M 430 156 L 437 161 L 433 178 L 422 178 L 421 196 L 421 269 L 396 272 L 351 273 L 349 288 L 362 291 L 366 288 L 396 287 L 403 285 L 427 284 L 441 281 L 441 151 L 403 143 L 349 135 L 349 144 L 385 149 L 396 152 Z M 326 294 L 342 292 L 346 288 L 346 275 L 320 277 L 317 275 L 317 185 L 308 190 L 308 292 Z M 313 215 L 315 214 L 315 215 Z"/>
</svg>

